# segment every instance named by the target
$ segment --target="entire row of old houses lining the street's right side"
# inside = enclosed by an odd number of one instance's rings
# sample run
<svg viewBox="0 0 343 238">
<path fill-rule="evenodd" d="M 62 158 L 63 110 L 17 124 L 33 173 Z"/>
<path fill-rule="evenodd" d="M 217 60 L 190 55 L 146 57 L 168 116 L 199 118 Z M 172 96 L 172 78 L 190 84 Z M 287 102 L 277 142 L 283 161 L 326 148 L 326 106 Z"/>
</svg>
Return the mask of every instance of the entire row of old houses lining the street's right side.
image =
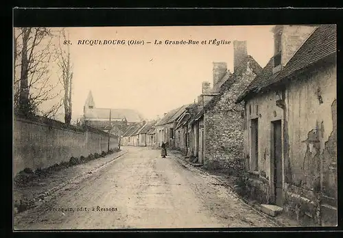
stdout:
<svg viewBox="0 0 343 238">
<path fill-rule="evenodd" d="M 213 86 L 203 82 L 196 103 L 123 138 L 140 146 L 167 142 L 205 168 L 243 163 L 252 198 L 307 224 L 336 225 L 335 25 L 279 25 L 273 32 L 274 55 L 264 68 L 246 41 L 235 41 L 233 72 L 213 63 Z"/>
</svg>

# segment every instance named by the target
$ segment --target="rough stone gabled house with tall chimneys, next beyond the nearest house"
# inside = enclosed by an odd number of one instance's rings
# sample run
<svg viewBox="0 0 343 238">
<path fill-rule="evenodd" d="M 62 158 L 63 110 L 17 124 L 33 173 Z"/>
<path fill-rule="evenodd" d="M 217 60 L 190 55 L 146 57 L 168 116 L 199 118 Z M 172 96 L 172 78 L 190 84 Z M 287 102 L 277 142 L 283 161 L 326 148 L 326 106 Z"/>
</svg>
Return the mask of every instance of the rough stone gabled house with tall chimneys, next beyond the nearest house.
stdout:
<svg viewBox="0 0 343 238">
<path fill-rule="evenodd" d="M 246 41 L 234 42 L 234 72 L 226 63 L 213 63 L 213 88 L 202 85 L 198 97 L 200 111 L 191 122 L 193 149 L 198 163 L 209 169 L 230 169 L 243 149 L 243 107 L 235 104 L 239 93 L 261 71 L 261 66 L 248 55 Z"/>
</svg>

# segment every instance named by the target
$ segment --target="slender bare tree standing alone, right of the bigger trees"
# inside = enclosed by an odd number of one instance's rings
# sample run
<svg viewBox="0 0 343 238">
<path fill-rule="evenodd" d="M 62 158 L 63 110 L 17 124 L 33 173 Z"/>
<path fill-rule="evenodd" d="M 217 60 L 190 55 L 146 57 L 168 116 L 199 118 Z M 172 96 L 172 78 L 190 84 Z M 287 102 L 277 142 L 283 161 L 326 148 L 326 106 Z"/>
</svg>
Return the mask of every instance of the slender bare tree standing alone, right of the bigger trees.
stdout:
<svg viewBox="0 0 343 238">
<path fill-rule="evenodd" d="M 73 65 L 71 64 L 69 44 L 65 44 L 68 40 L 69 36 L 66 36 L 66 31 L 63 28 L 60 31 L 58 41 L 58 67 L 62 71 L 59 80 L 64 89 L 64 122 L 70 124 L 72 111 L 71 92 L 73 90 Z"/>
</svg>

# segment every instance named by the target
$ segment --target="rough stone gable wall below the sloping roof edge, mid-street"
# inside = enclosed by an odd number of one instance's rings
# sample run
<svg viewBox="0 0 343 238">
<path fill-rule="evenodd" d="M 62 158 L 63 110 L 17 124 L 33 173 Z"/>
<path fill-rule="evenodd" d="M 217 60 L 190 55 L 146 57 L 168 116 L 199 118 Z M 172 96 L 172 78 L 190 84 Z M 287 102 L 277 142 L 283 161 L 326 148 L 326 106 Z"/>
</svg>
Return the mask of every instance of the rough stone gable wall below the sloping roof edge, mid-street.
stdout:
<svg viewBox="0 0 343 238">
<path fill-rule="evenodd" d="M 204 164 L 211 169 L 235 170 L 243 158 L 244 107 L 235 104 L 237 96 L 254 79 L 253 72 L 228 79 L 214 105 L 209 104 L 204 114 Z"/>
</svg>

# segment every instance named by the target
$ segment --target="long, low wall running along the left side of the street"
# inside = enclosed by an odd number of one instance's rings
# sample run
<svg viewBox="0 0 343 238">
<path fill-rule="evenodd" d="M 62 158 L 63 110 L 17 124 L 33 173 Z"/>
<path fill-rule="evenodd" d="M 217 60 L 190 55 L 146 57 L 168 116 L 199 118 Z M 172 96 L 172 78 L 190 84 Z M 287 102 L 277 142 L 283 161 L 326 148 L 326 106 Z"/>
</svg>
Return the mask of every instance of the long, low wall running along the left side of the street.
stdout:
<svg viewBox="0 0 343 238">
<path fill-rule="evenodd" d="M 47 168 L 71 157 L 84 157 L 108 149 L 108 135 L 96 129 L 81 129 L 45 118 L 14 116 L 14 174 L 25 168 Z M 117 148 L 110 137 L 110 148 Z"/>
</svg>

